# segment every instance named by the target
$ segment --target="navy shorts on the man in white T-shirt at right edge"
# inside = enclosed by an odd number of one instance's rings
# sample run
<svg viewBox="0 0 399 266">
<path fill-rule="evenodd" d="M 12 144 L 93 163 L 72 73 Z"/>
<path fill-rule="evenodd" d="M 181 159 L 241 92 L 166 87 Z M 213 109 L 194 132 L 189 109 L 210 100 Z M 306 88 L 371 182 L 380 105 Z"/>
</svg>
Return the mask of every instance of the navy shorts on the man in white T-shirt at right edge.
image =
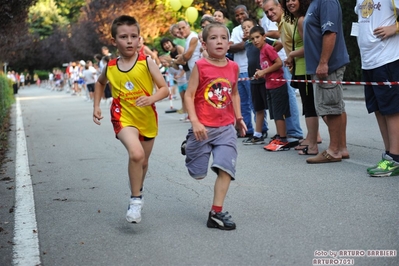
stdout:
<svg viewBox="0 0 399 266">
<path fill-rule="evenodd" d="M 363 70 L 364 81 L 399 81 L 399 60 L 392 63 Z M 399 85 L 364 86 L 366 107 L 369 113 L 379 111 L 382 115 L 399 113 Z"/>
</svg>

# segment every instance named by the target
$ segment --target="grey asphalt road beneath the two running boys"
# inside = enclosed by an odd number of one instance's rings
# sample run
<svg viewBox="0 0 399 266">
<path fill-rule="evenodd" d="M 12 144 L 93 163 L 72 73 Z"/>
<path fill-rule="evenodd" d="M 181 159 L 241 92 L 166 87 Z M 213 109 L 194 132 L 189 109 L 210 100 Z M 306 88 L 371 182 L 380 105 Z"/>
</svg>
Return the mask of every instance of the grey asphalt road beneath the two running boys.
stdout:
<svg viewBox="0 0 399 266">
<path fill-rule="evenodd" d="M 169 101 L 157 104 L 160 130 L 143 219 L 129 224 L 127 154 L 105 105 L 104 122 L 97 126 L 92 104 L 82 97 L 34 86 L 18 97 L 42 265 L 312 265 L 331 262 L 330 251 L 348 259 L 332 263 L 399 265 L 399 177 L 366 174 L 383 144 L 363 101 L 346 102 L 351 159 L 341 163 L 309 165 L 294 150 L 266 152 L 238 139 L 237 179 L 224 206 L 237 230 L 225 232 L 206 227 L 215 175 L 209 171 L 202 181 L 189 177 L 180 143 L 190 124 L 165 113 Z M 173 103 L 180 108 L 179 100 Z M 272 136 L 273 121 L 269 127 Z M 12 265 L 16 250 L 17 131 L 14 124 L 9 160 L 0 171 L 0 265 Z M 328 144 L 322 122 L 320 132 L 322 151 Z M 396 256 L 370 257 L 373 250 Z"/>
</svg>

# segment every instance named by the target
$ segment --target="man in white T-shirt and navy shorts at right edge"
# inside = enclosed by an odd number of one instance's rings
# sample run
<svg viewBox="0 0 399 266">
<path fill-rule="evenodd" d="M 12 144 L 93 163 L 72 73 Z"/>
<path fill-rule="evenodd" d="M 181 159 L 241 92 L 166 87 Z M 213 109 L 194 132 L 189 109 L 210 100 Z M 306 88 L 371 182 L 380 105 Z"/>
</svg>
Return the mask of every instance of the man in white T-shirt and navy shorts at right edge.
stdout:
<svg viewBox="0 0 399 266">
<path fill-rule="evenodd" d="M 399 1 L 385 1 L 378 9 L 357 1 L 357 37 L 363 79 L 369 82 L 399 81 Z M 384 141 L 382 160 L 367 168 L 373 177 L 399 175 L 399 86 L 366 85 L 366 107 L 374 113 Z"/>
</svg>

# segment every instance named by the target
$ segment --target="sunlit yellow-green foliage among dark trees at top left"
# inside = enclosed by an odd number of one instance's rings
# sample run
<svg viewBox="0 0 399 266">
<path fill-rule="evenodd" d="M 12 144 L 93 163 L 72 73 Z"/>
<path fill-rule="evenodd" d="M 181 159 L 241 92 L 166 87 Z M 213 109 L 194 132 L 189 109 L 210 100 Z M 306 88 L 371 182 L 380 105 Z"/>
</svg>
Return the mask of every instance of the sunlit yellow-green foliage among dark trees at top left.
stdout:
<svg viewBox="0 0 399 266">
<path fill-rule="evenodd" d="M 56 28 L 63 28 L 69 22 L 60 15 L 54 0 L 39 0 L 29 10 L 28 23 L 30 32 L 40 39 L 51 36 Z"/>
</svg>

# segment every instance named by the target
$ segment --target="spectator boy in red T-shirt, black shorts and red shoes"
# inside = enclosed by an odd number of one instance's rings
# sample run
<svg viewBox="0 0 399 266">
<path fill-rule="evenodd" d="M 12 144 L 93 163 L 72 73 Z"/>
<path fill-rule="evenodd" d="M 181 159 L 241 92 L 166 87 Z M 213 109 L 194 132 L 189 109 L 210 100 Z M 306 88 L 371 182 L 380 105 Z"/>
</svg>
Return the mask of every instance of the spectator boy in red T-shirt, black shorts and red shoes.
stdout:
<svg viewBox="0 0 399 266">
<path fill-rule="evenodd" d="M 287 83 L 272 80 L 284 79 L 283 62 L 274 48 L 265 42 L 265 30 L 261 26 L 253 27 L 249 34 L 252 43 L 260 50 L 261 69 L 256 70 L 254 77 L 259 79 L 265 76 L 270 119 L 274 119 L 277 129 L 275 139 L 264 146 L 264 149 L 268 151 L 289 150 L 285 125 L 285 119 L 291 116 Z"/>
</svg>

